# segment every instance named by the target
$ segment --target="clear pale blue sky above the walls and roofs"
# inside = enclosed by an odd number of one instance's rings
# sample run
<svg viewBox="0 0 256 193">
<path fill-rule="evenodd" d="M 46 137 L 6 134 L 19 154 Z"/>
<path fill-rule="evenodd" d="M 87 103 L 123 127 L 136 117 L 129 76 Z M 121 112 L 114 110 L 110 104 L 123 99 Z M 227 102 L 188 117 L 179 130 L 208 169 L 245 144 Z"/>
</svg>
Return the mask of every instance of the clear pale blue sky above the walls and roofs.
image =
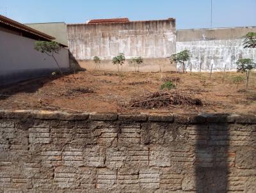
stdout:
<svg viewBox="0 0 256 193">
<path fill-rule="evenodd" d="M 22 23 L 173 17 L 189 29 L 211 27 L 211 0 L 0 0 L 0 14 Z M 240 26 L 256 26 L 256 0 L 212 0 L 212 27 Z"/>
</svg>

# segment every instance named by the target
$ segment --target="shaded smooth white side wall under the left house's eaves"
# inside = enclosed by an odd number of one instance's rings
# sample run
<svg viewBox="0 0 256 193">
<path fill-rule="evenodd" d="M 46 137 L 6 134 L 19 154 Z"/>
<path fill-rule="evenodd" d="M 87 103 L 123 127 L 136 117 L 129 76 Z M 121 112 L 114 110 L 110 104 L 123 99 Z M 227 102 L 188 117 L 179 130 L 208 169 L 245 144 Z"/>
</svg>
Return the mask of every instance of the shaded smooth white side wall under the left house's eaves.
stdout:
<svg viewBox="0 0 256 193">
<path fill-rule="evenodd" d="M 43 75 L 58 69 L 54 59 L 34 49 L 35 40 L 0 30 L 0 85 Z M 69 68 L 68 49 L 56 59 L 63 70 Z"/>
</svg>

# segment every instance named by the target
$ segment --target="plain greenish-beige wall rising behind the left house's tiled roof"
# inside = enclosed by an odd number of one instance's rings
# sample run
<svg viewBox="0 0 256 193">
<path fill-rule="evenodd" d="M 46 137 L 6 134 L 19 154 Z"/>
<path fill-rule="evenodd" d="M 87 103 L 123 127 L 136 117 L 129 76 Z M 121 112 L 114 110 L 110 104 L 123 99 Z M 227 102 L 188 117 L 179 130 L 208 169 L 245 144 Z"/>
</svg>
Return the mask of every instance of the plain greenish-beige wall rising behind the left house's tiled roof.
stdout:
<svg viewBox="0 0 256 193">
<path fill-rule="evenodd" d="M 25 24 L 26 26 L 32 27 L 38 31 L 42 31 L 47 35 L 51 35 L 56 38 L 56 42 L 68 45 L 67 40 L 67 25 L 65 22 L 51 22 L 51 23 L 36 23 L 36 24 Z"/>
</svg>

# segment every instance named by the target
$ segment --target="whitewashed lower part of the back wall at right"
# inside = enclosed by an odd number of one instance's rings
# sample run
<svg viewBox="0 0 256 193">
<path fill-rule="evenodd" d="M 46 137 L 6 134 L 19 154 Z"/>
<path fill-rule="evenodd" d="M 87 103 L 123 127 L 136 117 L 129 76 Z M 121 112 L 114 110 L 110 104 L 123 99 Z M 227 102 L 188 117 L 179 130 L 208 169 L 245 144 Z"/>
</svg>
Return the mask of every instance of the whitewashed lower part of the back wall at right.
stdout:
<svg viewBox="0 0 256 193">
<path fill-rule="evenodd" d="M 243 39 L 234 40 L 198 40 L 191 42 L 177 42 L 176 50 L 180 52 L 184 49 L 191 51 L 191 59 L 186 64 L 186 69 L 198 72 L 200 64 L 202 71 L 210 71 L 211 63 L 212 70 L 223 71 L 226 65 L 226 70 L 236 70 L 236 61 L 239 58 L 256 59 L 256 49 L 244 49 Z M 181 68 L 180 65 L 177 66 Z"/>
</svg>

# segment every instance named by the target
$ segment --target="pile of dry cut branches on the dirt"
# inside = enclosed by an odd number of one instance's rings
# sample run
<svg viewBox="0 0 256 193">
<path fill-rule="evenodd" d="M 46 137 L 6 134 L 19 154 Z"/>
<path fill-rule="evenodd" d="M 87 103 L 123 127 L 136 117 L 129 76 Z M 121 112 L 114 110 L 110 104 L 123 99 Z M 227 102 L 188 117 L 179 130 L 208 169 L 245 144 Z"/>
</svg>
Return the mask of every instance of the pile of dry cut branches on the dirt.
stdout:
<svg viewBox="0 0 256 193">
<path fill-rule="evenodd" d="M 158 91 L 148 95 L 134 97 L 129 102 L 129 107 L 140 107 L 143 109 L 152 109 L 160 107 L 179 107 L 188 105 L 203 105 L 200 98 L 195 98 L 192 93 L 177 91 L 175 89 L 168 91 Z M 176 106 L 177 105 L 177 106 Z"/>
</svg>

